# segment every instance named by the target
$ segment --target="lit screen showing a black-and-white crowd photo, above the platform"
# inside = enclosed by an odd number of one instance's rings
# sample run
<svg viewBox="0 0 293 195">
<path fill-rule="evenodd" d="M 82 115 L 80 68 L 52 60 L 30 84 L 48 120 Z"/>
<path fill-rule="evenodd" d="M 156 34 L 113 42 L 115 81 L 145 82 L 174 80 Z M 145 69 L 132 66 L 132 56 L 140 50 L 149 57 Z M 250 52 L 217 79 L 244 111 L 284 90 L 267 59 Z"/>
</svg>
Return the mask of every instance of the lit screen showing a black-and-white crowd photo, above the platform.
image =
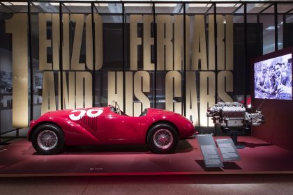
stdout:
<svg viewBox="0 0 293 195">
<path fill-rule="evenodd" d="M 292 53 L 255 61 L 256 99 L 292 100 Z"/>
</svg>

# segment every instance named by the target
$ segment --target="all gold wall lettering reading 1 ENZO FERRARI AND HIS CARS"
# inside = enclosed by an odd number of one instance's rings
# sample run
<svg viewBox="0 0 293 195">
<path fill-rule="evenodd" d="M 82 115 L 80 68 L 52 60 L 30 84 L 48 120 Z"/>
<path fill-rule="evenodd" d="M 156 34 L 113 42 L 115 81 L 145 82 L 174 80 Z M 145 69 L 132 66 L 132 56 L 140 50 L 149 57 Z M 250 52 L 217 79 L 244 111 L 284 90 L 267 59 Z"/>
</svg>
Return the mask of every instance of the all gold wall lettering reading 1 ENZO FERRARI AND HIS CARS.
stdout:
<svg viewBox="0 0 293 195">
<path fill-rule="evenodd" d="M 95 42 L 92 37 L 91 15 L 63 14 L 63 42 L 60 46 L 59 14 L 40 13 L 39 32 L 39 70 L 43 71 L 43 101 L 41 113 L 61 109 L 92 106 L 92 74 L 103 68 L 103 20 L 93 15 Z M 151 71 L 155 63 L 151 60 L 154 38 L 151 33 L 153 15 L 130 15 L 130 61 L 125 72 L 126 114 L 138 116 L 144 108 L 151 106 L 147 93 L 152 90 Z M 209 15 L 186 16 L 186 117 L 195 125 L 213 125 L 206 118 L 206 109 L 215 103 L 217 95 L 223 101 L 232 101 L 233 92 L 233 17 L 217 15 L 217 35 L 214 40 L 214 18 Z M 70 22 L 75 24 L 73 44 L 70 44 Z M 50 23 L 52 36 L 48 38 Z M 207 23 L 207 26 L 206 26 Z M 142 36 L 137 28 L 143 26 Z M 206 33 L 206 27 L 209 31 Z M 183 15 L 157 15 L 157 71 L 165 75 L 165 109 L 183 114 Z M 6 20 L 6 33 L 13 38 L 13 126 L 27 127 L 28 116 L 28 45 L 27 14 L 15 14 Z M 80 62 L 82 38 L 85 37 L 86 59 Z M 93 66 L 93 44 L 95 46 L 95 65 Z M 217 51 L 215 51 L 217 45 Z M 61 86 L 59 48 L 62 49 L 63 86 Z M 72 48 L 70 48 L 72 47 Z M 143 54 L 139 55 L 138 47 Z M 48 49 L 52 50 L 52 61 L 48 61 Z M 70 52 L 72 51 L 72 52 Z M 215 53 L 218 56 L 218 71 L 215 68 Z M 141 58 L 141 59 L 139 59 Z M 138 61 L 143 62 L 138 68 Z M 110 70 L 108 78 L 108 102 L 119 102 L 123 107 L 123 72 Z M 216 79 L 217 82 L 216 82 Z M 216 83 L 218 86 L 216 86 Z M 55 88 L 55 87 L 58 88 Z M 60 97 L 61 87 L 63 97 Z M 216 94 L 216 88 L 218 94 Z M 56 94 L 58 92 L 58 94 Z M 134 101 L 135 99 L 135 101 Z M 17 108 L 17 109 L 16 109 Z M 22 108 L 22 109 L 20 109 Z M 20 113 L 21 112 L 21 113 Z M 21 117 L 20 117 L 21 116 Z M 200 117 L 199 117 L 200 116 Z"/>
</svg>

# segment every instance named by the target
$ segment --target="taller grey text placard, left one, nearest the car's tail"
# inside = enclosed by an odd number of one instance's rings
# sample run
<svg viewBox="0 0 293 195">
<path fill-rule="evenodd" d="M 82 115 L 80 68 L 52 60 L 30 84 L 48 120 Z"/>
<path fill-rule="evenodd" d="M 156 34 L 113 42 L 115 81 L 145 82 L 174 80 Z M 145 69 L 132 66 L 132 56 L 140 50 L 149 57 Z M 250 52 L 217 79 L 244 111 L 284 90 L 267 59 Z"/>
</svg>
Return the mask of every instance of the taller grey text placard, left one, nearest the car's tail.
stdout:
<svg viewBox="0 0 293 195">
<path fill-rule="evenodd" d="M 204 157 L 204 165 L 206 167 L 223 167 L 218 149 L 211 134 L 197 135 L 197 141 L 200 143 L 200 150 Z"/>
</svg>

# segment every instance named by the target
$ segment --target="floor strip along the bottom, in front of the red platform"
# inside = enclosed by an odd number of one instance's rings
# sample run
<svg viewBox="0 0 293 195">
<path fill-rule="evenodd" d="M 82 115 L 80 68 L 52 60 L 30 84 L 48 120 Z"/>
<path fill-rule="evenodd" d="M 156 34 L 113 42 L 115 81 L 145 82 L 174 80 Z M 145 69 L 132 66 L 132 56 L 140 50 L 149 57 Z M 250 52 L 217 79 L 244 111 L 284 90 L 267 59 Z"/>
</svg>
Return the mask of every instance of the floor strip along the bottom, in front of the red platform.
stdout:
<svg viewBox="0 0 293 195">
<path fill-rule="evenodd" d="M 292 174 L 0 178 L 0 194 L 292 195 Z"/>
</svg>

